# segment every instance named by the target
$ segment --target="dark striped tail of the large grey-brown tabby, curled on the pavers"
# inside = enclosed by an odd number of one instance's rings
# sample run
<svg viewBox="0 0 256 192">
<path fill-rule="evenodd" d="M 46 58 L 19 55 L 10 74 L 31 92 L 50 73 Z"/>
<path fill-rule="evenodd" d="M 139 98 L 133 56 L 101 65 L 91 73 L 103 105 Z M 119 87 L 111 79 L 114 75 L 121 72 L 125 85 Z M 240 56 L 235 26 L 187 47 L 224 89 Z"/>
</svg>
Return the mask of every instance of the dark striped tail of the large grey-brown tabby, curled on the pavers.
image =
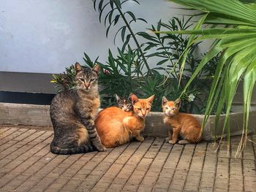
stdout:
<svg viewBox="0 0 256 192">
<path fill-rule="evenodd" d="M 97 150 L 93 145 L 83 145 L 80 147 L 72 147 L 72 148 L 61 148 L 53 145 L 53 142 L 50 143 L 50 152 L 57 155 L 72 155 L 77 153 L 89 153 Z"/>
</svg>

